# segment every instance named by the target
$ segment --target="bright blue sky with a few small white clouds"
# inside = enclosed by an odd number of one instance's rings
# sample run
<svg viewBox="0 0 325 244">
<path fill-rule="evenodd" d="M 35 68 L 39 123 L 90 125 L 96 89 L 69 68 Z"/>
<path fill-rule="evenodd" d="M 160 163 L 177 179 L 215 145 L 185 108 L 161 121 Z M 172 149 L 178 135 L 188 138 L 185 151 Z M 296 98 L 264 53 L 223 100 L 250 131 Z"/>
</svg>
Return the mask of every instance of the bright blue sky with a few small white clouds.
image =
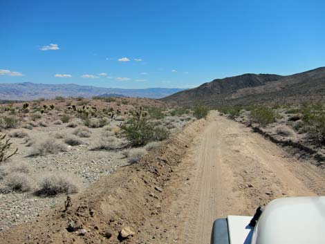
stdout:
<svg viewBox="0 0 325 244">
<path fill-rule="evenodd" d="M 189 88 L 298 73 L 325 66 L 324 9 L 322 0 L 0 0 L 0 82 Z"/>
</svg>

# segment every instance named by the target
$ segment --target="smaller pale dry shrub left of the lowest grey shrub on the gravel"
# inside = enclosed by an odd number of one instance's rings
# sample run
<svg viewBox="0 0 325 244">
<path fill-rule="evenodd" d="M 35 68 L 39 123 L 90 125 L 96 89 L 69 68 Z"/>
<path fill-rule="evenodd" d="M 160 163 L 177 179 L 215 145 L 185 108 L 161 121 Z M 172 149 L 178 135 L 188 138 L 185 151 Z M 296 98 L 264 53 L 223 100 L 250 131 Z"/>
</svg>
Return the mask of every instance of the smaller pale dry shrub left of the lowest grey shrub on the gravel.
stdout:
<svg viewBox="0 0 325 244">
<path fill-rule="evenodd" d="M 5 178 L 5 185 L 12 191 L 25 192 L 32 189 L 30 178 L 26 173 L 13 172 Z"/>
</svg>

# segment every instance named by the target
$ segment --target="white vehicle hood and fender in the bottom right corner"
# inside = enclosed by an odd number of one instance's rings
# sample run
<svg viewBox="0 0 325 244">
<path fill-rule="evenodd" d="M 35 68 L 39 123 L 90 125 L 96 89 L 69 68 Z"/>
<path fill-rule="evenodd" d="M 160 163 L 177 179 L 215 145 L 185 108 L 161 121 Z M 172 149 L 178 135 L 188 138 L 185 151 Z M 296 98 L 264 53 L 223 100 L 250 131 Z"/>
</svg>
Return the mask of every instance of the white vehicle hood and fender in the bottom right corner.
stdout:
<svg viewBox="0 0 325 244">
<path fill-rule="evenodd" d="M 279 198 L 254 218 L 228 216 L 214 221 L 211 244 L 271 243 L 324 244 L 325 196 Z"/>
</svg>

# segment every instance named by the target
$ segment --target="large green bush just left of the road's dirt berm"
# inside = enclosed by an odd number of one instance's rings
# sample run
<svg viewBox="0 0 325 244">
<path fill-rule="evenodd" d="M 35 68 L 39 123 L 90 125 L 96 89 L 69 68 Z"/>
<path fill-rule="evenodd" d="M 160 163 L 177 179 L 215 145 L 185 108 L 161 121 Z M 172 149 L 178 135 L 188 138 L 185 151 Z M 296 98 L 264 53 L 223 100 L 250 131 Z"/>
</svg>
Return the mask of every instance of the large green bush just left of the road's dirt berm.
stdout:
<svg viewBox="0 0 325 244">
<path fill-rule="evenodd" d="M 163 140 L 167 137 L 165 129 L 155 127 L 147 116 L 142 115 L 142 111 L 124 122 L 120 128 L 127 140 L 135 147 L 145 145 L 154 140 Z"/>
</svg>

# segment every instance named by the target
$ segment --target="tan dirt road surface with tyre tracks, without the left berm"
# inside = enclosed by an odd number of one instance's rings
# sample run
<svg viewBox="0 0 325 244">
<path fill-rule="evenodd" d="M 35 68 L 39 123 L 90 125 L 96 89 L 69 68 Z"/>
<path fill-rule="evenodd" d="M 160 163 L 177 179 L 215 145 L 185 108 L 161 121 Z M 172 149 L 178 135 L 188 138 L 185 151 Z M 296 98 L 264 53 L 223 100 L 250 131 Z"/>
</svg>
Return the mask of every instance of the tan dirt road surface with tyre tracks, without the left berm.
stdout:
<svg viewBox="0 0 325 244">
<path fill-rule="evenodd" d="M 188 187 L 173 186 L 183 187 L 173 204 L 178 243 L 210 243 L 216 218 L 252 215 L 274 198 L 325 194 L 316 167 L 286 158 L 277 145 L 216 112 L 208 120 L 179 171 L 189 176 Z"/>
</svg>

